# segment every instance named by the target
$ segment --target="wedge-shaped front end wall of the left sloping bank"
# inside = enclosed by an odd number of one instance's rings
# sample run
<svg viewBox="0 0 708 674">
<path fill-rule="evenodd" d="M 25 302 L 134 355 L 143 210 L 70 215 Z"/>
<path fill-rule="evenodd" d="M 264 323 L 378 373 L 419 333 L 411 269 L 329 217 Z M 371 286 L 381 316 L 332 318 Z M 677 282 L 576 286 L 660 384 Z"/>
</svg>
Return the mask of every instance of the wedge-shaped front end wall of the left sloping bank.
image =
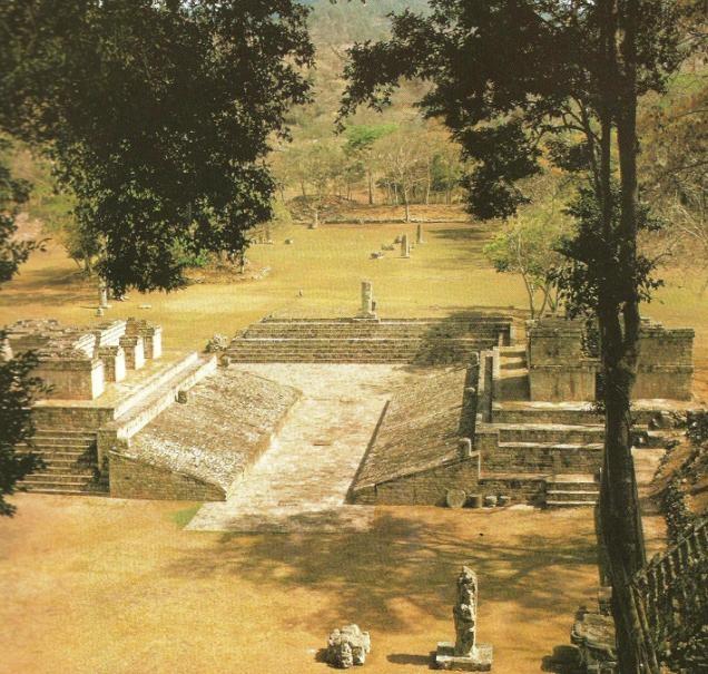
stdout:
<svg viewBox="0 0 708 674">
<path fill-rule="evenodd" d="M 225 492 L 191 476 L 150 466 L 130 457 L 108 456 L 110 495 L 117 498 L 155 500 L 223 501 Z"/>
</svg>

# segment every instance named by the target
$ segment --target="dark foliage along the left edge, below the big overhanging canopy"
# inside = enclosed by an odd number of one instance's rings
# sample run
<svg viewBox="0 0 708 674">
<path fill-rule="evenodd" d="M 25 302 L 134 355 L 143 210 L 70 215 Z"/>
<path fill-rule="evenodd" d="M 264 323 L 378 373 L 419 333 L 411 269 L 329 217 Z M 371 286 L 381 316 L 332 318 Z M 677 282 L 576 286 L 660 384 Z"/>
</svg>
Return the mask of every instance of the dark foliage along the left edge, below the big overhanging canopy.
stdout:
<svg viewBox="0 0 708 674">
<path fill-rule="evenodd" d="M 0 155 L 8 143 L 0 139 Z M 13 178 L 7 165 L 0 162 L 0 284 L 9 281 L 38 247 L 36 242 L 14 238 L 14 216 L 20 204 L 29 197 L 29 184 Z M 30 406 L 41 390 L 41 381 L 32 377 L 37 356 L 26 352 L 7 358 L 7 334 L 0 330 L 0 516 L 11 516 L 16 508 L 6 497 L 16 491 L 16 485 L 41 466 L 38 455 L 20 456 L 16 448 L 35 432 Z"/>
</svg>

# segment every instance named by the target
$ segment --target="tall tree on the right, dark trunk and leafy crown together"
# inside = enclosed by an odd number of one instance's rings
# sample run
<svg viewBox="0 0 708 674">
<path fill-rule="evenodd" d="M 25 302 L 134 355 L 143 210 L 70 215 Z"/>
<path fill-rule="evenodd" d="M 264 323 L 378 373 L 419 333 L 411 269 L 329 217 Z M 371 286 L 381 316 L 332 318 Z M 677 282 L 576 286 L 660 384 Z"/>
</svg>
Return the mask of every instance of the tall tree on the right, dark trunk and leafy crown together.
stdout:
<svg viewBox="0 0 708 674">
<path fill-rule="evenodd" d="M 623 674 L 658 672 L 628 580 L 645 563 L 631 456 L 630 395 L 639 303 L 652 286 L 637 251 L 637 105 L 661 91 L 680 62 L 679 6 L 670 0 L 431 0 L 430 17 L 403 12 L 392 38 L 350 50 L 343 114 L 381 109 L 400 78 L 433 84 L 422 106 L 444 119 L 475 168 L 469 206 L 513 216 L 518 182 L 550 156 L 587 175 L 578 245 L 569 246 L 568 302 L 597 316 L 604 378 L 601 528 Z M 613 162 L 613 154 L 618 162 Z M 613 186 L 617 175 L 619 187 Z"/>
</svg>

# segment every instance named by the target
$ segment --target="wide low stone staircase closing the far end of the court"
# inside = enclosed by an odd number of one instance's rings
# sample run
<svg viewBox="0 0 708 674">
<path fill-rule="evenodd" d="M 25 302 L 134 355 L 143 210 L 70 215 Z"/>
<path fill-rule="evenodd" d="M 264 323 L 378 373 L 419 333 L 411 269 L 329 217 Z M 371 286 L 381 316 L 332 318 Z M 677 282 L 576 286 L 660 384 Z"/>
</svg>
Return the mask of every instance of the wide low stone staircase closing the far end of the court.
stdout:
<svg viewBox="0 0 708 674">
<path fill-rule="evenodd" d="M 508 343 L 511 320 L 265 319 L 238 335 L 235 362 L 455 363 Z"/>
</svg>

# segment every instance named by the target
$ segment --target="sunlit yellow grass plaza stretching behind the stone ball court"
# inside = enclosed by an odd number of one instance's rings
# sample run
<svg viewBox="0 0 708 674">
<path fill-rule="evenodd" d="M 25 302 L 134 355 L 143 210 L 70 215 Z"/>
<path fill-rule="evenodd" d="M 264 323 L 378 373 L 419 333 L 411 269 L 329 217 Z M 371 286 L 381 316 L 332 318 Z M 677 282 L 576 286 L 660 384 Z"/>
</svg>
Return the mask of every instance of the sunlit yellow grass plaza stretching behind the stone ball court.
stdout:
<svg viewBox="0 0 708 674">
<path fill-rule="evenodd" d="M 385 212 L 380 207 L 375 214 L 378 217 Z M 459 207 L 435 206 L 424 212 L 426 216 L 445 214 L 451 219 L 463 217 Z M 370 253 L 403 232 L 415 241 L 415 224 L 323 225 L 314 231 L 304 225 L 282 227 L 272 233 L 274 245 L 254 245 L 248 253 L 255 268 L 271 267 L 266 277 L 199 283 L 170 294 L 131 293 L 107 318 L 148 318 L 165 326 L 168 346 L 200 349 L 214 332 L 232 334 L 268 313 L 352 315 L 358 309 L 362 279 L 374 282 L 380 313 L 386 316 L 444 315 L 473 305 L 525 309 L 520 280 L 494 273 L 482 255 L 489 225 L 426 225 L 426 244 L 415 248 L 410 260 L 402 260 L 397 248 L 386 252 L 383 260 L 370 260 Z M 284 245 L 288 237 L 293 245 Z M 92 284 L 81 282 L 76 270 L 58 245 L 35 254 L 21 274 L 0 290 L 0 324 L 33 316 L 73 323 L 96 320 L 97 292 Z M 708 299 L 673 283 L 678 274 L 665 275 L 668 286 L 645 313 L 667 325 L 696 329 L 697 382 L 708 393 Z M 140 304 L 151 307 L 138 309 Z"/>
</svg>

